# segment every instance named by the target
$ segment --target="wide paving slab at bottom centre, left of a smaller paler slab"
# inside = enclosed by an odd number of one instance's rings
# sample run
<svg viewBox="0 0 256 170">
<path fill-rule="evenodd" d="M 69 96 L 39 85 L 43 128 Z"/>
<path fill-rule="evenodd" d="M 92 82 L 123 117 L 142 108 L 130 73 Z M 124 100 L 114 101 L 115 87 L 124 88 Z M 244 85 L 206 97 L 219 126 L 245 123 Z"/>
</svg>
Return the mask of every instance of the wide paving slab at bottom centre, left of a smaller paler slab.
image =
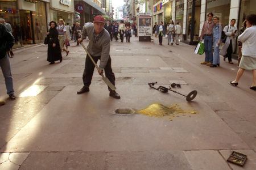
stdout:
<svg viewBox="0 0 256 170">
<path fill-rule="evenodd" d="M 191 169 L 182 151 L 110 152 L 106 169 Z"/>
</svg>

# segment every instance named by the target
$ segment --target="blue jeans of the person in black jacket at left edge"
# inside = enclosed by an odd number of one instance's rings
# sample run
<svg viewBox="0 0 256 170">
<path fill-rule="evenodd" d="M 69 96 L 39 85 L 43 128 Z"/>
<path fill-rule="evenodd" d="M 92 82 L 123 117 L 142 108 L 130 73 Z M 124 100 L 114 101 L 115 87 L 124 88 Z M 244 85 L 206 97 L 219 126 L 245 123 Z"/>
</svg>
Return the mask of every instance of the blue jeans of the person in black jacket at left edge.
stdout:
<svg viewBox="0 0 256 170">
<path fill-rule="evenodd" d="M 0 67 L 3 72 L 3 76 L 5 77 L 5 86 L 7 89 L 7 94 L 14 94 L 13 90 L 13 76 L 11 75 L 11 65 L 9 61 L 8 54 L 2 59 L 0 59 Z"/>
</svg>

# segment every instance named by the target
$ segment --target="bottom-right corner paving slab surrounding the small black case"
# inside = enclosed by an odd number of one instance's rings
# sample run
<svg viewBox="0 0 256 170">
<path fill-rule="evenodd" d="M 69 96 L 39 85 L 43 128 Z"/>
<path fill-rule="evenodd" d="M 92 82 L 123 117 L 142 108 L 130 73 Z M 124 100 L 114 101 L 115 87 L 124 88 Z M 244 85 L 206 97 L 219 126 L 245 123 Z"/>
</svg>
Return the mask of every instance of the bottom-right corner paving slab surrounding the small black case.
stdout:
<svg viewBox="0 0 256 170">
<path fill-rule="evenodd" d="M 247 160 L 243 167 L 239 167 L 238 165 L 228 163 L 233 170 L 240 170 L 240 169 L 256 169 L 256 153 L 253 150 L 222 150 L 220 151 L 221 155 L 227 160 L 229 155 L 232 151 L 240 152 L 241 154 L 247 155 Z"/>
</svg>

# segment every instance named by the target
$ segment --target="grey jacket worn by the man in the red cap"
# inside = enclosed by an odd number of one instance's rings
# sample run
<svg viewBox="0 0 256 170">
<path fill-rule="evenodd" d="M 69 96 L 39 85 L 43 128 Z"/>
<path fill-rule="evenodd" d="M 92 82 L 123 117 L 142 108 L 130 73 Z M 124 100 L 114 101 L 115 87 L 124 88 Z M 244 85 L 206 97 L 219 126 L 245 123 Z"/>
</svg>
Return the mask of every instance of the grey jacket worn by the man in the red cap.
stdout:
<svg viewBox="0 0 256 170">
<path fill-rule="evenodd" d="M 103 70 L 109 60 L 110 35 L 105 28 L 96 36 L 93 23 L 86 23 L 82 28 L 82 39 L 89 37 L 87 50 L 92 57 L 101 56 L 100 69 Z"/>
</svg>

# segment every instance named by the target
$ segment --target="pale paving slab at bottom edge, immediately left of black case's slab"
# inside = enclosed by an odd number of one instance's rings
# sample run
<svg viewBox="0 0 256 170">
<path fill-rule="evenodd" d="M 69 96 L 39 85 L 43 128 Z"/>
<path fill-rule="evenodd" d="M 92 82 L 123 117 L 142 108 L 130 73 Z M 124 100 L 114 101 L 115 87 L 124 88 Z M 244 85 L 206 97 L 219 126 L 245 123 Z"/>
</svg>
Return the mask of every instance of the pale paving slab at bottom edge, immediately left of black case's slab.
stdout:
<svg viewBox="0 0 256 170">
<path fill-rule="evenodd" d="M 230 169 L 218 151 L 184 151 L 192 169 Z"/>
</svg>

